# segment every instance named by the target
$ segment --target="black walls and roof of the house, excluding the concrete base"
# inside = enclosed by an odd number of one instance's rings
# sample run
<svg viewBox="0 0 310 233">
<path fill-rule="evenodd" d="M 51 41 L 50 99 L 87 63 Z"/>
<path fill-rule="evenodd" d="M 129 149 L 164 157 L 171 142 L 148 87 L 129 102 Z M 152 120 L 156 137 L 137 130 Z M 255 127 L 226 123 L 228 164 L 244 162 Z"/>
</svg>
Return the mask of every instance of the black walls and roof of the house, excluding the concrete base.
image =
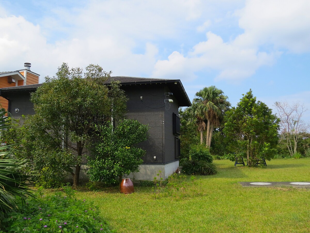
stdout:
<svg viewBox="0 0 310 233">
<path fill-rule="evenodd" d="M 173 113 L 178 115 L 180 105 L 190 106 L 182 84 L 179 80 L 132 77 L 125 79 L 127 82 L 122 84 L 121 88 L 129 99 L 126 116 L 149 126 L 148 140 L 139 144 L 146 150 L 146 155 L 142 158 L 144 164 L 165 164 L 178 160 L 175 157 L 175 137 L 178 135 L 173 134 Z M 134 80 L 132 84 L 131 80 Z M 42 84 L 0 89 L 0 95 L 10 101 L 12 117 L 20 118 L 21 115 L 34 114 L 30 93 L 40 85 Z M 169 92 L 173 95 L 166 96 Z M 172 99 L 173 103 L 165 103 L 165 99 Z M 19 112 L 16 113 L 15 108 L 18 108 Z"/>
</svg>

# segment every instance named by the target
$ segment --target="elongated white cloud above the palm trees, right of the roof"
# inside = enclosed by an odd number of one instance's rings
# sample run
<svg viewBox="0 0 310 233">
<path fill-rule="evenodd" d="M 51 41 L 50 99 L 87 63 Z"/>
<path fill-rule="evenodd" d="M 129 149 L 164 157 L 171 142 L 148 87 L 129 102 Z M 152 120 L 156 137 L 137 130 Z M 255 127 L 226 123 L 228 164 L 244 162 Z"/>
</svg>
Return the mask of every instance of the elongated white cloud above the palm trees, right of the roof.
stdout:
<svg viewBox="0 0 310 233">
<path fill-rule="evenodd" d="M 173 52 L 168 60 L 158 61 L 154 75 L 169 77 L 173 73 L 185 80 L 192 79 L 195 71 L 213 69 L 219 71 L 217 80 L 240 80 L 250 75 L 263 65 L 272 65 L 276 53 L 259 52 L 254 48 L 243 48 L 235 43 L 225 43 L 211 32 L 206 33 L 207 40 L 196 44 L 187 56 Z M 186 69 L 186 71 L 184 71 Z"/>
</svg>

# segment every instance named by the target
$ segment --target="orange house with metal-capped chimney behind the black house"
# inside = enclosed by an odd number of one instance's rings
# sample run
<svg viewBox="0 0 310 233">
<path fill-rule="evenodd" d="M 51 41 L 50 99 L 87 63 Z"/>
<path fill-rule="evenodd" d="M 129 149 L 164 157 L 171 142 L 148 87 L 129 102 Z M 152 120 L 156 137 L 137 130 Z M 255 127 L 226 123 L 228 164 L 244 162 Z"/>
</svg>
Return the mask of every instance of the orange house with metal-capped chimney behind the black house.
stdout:
<svg viewBox="0 0 310 233">
<path fill-rule="evenodd" d="M 38 84 L 40 75 L 30 71 L 30 63 L 24 63 L 24 66 L 23 70 L 0 72 L 0 88 Z M 6 98 L 0 97 L 0 104 L 10 112 Z"/>
</svg>

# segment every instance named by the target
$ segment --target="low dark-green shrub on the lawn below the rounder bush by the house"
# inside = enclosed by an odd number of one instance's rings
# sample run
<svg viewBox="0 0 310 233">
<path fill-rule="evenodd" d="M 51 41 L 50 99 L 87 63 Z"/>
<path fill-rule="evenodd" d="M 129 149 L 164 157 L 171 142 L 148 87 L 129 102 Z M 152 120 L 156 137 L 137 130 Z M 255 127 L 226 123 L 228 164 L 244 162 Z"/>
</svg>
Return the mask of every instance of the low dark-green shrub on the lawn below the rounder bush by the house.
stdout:
<svg viewBox="0 0 310 233">
<path fill-rule="evenodd" d="M 214 175 L 217 173 L 216 167 L 213 162 L 204 160 L 187 160 L 183 161 L 182 172 L 187 175 Z"/>
</svg>

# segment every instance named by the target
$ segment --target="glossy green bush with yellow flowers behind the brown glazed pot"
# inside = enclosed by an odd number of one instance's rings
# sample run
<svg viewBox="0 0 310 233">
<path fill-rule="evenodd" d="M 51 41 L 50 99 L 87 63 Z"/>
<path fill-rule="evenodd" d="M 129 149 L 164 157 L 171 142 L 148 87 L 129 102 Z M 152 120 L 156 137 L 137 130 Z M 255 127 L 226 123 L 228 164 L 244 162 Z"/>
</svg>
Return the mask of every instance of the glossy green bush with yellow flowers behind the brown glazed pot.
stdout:
<svg viewBox="0 0 310 233">
<path fill-rule="evenodd" d="M 88 158 L 87 173 L 91 181 L 106 185 L 118 183 L 123 175 L 138 172 L 145 151 L 136 144 L 147 139 L 148 126 L 125 119 L 113 129 L 111 124 L 98 126 L 98 141 L 92 147 L 93 158 Z"/>
</svg>

